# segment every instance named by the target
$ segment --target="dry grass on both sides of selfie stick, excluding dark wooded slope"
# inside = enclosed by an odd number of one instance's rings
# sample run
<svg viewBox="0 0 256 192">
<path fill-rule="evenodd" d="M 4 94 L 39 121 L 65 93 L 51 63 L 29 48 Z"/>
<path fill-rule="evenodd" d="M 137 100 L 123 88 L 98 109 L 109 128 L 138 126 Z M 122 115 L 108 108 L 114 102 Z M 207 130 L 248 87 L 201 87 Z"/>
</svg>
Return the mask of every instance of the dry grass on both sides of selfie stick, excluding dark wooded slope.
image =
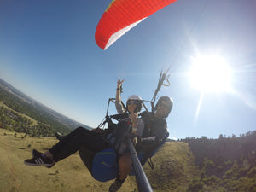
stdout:
<svg viewBox="0 0 256 192">
<path fill-rule="evenodd" d="M 73 154 L 51 169 L 26 166 L 23 160 L 31 157 L 31 149 L 47 150 L 53 137 L 24 137 L 0 129 L 0 191 L 108 191 L 113 181 L 98 182 L 90 176 L 79 154 Z M 197 176 L 193 155 L 187 143 L 166 143 L 153 158 L 154 170 L 146 164 L 145 172 L 154 191 L 186 191 L 189 181 Z M 135 177 L 128 177 L 119 191 L 137 191 Z"/>
</svg>

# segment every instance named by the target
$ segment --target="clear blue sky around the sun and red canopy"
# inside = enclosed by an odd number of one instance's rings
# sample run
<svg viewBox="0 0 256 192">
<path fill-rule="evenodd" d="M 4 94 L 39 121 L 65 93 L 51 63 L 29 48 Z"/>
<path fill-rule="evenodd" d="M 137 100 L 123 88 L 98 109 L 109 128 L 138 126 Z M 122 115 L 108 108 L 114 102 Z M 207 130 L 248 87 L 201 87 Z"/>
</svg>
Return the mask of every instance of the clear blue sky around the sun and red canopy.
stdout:
<svg viewBox="0 0 256 192">
<path fill-rule="evenodd" d="M 231 136 L 256 125 L 255 0 L 177 0 L 143 20 L 106 51 L 94 39 L 111 1 L 0 3 L 0 78 L 49 108 L 96 127 L 116 82 L 124 101 L 151 100 L 160 71 L 170 69 L 170 137 Z M 195 89 L 197 55 L 220 55 L 232 69 L 232 91 Z M 202 96 L 202 97 L 201 97 Z M 201 103 L 201 105 L 199 105 Z M 115 113 L 112 105 L 109 113 Z"/>
</svg>

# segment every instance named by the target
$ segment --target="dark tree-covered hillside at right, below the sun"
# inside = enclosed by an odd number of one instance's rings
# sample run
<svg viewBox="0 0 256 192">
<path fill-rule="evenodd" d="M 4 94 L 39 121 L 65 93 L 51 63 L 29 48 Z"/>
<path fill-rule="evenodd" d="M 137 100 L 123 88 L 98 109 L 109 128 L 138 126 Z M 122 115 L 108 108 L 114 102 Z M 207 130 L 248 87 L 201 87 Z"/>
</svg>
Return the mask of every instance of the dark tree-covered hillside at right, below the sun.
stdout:
<svg viewBox="0 0 256 192">
<path fill-rule="evenodd" d="M 181 141 L 189 143 L 201 170 L 201 177 L 189 183 L 188 192 L 256 191 L 256 131 L 241 137 L 220 134 L 218 139 L 187 137 Z"/>
</svg>

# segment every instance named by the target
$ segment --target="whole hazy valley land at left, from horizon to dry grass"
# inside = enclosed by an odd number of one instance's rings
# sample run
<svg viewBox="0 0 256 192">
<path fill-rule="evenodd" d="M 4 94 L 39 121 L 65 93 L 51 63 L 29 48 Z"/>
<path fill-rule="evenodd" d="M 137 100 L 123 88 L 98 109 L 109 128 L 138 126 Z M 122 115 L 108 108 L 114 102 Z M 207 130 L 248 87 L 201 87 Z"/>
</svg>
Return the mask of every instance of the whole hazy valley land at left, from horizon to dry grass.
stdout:
<svg viewBox="0 0 256 192">
<path fill-rule="evenodd" d="M 0 127 L 33 136 L 53 136 L 55 131 L 67 133 L 79 125 L 0 79 Z"/>
</svg>

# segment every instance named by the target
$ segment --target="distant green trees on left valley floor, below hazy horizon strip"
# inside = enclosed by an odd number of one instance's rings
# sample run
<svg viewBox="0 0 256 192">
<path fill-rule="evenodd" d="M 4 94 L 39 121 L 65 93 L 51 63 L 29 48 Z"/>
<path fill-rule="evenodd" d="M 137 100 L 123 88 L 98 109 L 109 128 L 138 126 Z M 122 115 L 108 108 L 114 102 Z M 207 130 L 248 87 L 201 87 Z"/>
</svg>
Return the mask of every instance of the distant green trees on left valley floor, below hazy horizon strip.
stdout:
<svg viewBox="0 0 256 192">
<path fill-rule="evenodd" d="M 14 96 L 1 86 L 0 102 L 8 106 L 8 108 L 4 106 L 0 108 L 0 128 L 26 132 L 32 136 L 46 137 L 54 136 L 56 131 L 65 134 L 74 128 L 63 124 L 61 119 L 55 119 L 53 113 L 48 113 L 36 104 L 26 102 L 19 96 Z M 26 118 L 26 116 L 35 119 L 37 125 L 34 125 L 32 120 Z"/>
</svg>

